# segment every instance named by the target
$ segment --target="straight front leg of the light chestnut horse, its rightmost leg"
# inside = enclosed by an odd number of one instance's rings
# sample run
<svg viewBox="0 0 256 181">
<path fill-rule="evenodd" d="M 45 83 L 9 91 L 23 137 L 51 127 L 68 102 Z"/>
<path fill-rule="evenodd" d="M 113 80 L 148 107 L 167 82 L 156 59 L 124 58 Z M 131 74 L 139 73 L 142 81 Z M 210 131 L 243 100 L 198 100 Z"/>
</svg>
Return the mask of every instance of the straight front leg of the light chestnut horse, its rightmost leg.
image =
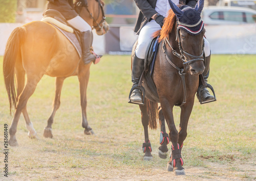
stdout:
<svg viewBox="0 0 256 181">
<path fill-rule="evenodd" d="M 88 67 L 88 66 L 87 66 Z M 93 129 L 89 126 L 86 114 L 87 107 L 87 86 L 89 82 L 90 76 L 90 65 L 88 69 L 81 71 L 78 75 L 79 79 L 79 87 L 80 87 L 80 102 L 81 102 L 81 110 L 82 110 L 82 127 L 84 128 L 85 135 L 94 135 Z"/>
</svg>

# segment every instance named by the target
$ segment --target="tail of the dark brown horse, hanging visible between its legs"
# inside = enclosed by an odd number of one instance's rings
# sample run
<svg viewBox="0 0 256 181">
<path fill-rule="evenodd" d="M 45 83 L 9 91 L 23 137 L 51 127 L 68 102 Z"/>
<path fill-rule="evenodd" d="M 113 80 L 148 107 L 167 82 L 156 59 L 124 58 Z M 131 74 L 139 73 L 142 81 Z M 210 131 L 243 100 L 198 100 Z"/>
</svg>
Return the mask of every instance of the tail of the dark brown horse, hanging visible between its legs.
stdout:
<svg viewBox="0 0 256 181">
<path fill-rule="evenodd" d="M 149 116 L 148 127 L 156 130 L 158 127 L 158 103 L 146 99 L 147 114 Z"/>
</svg>

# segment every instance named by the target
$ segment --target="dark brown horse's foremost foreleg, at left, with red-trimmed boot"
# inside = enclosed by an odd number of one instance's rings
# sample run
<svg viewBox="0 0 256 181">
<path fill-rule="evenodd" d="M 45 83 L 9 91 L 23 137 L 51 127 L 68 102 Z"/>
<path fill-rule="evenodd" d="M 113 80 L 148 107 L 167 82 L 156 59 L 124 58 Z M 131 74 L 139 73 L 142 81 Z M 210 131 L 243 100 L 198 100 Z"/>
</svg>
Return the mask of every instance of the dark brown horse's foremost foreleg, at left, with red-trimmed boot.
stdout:
<svg viewBox="0 0 256 181">
<path fill-rule="evenodd" d="M 180 154 L 180 146 L 178 144 L 179 134 L 175 127 L 174 117 L 173 117 L 173 107 L 167 98 L 160 98 L 161 107 L 163 110 L 164 117 L 166 119 L 169 128 L 169 138 L 172 142 L 172 153 L 170 161 L 167 163 L 167 170 L 174 171 L 176 175 L 184 175 L 185 171 L 182 167 L 183 160 Z"/>
</svg>

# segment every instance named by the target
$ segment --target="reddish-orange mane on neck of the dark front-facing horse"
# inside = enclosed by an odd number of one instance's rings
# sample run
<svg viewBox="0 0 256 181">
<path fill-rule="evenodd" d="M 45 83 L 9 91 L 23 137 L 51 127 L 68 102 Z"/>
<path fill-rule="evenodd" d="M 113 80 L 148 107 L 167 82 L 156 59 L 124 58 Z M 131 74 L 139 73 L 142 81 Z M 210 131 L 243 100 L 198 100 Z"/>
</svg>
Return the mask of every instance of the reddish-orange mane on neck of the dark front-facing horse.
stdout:
<svg viewBox="0 0 256 181">
<path fill-rule="evenodd" d="M 181 5 L 178 5 L 180 7 Z M 169 36 L 170 33 L 174 31 L 175 25 L 176 25 L 176 15 L 173 12 L 172 9 L 169 10 L 168 16 L 164 19 L 163 27 L 161 30 L 156 31 L 153 34 L 153 37 L 160 36 L 158 39 L 158 42 L 162 41 L 166 37 Z"/>
</svg>

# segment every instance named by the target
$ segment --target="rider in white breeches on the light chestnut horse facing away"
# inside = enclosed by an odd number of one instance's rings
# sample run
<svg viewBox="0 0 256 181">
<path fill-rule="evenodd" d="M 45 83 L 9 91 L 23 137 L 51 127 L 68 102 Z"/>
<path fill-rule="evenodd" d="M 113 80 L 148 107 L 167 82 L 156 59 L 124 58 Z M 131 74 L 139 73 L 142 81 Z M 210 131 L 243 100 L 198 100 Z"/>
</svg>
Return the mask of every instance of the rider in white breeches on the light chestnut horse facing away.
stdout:
<svg viewBox="0 0 256 181">
<path fill-rule="evenodd" d="M 84 21 L 74 10 L 73 0 L 48 0 L 49 4 L 47 9 L 54 9 L 59 11 L 63 17 L 66 18 L 68 23 L 75 29 L 80 31 L 81 44 L 82 44 L 82 60 L 84 64 L 94 62 L 96 57 L 90 53 L 92 42 L 92 28 Z M 82 6 L 86 3 L 84 0 L 80 1 Z"/>
</svg>

